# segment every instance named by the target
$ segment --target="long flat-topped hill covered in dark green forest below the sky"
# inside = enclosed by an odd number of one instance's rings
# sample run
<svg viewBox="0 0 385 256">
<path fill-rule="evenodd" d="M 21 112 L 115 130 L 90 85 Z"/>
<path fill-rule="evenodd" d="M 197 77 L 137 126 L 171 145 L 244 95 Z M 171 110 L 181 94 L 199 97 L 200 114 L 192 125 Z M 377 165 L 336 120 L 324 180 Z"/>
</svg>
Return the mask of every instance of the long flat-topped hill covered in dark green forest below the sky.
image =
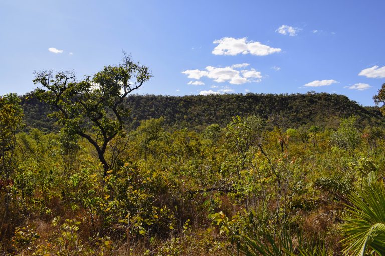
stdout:
<svg viewBox="0 0 385 256">
<path fill-rule="evenodd" d="M 125 101 L 130 109 L 129 128 L 141 120 L 164 116 L 168 128 L 202 129 L 207 125 L 227 124 L 233 116 L 258 115 L 278 127 L 306 124 L 336 127 L 341 117 L 355 115 L 362 126 L 384 125 L 377 107 L 363 107 L 344 95 L 307 94 L 225 94 L 208 96 L 132 95 Z M 49 107 L 33 94 L 22 96 L 26 129 L 56 130 L 47 118 Z"/>
</svg>

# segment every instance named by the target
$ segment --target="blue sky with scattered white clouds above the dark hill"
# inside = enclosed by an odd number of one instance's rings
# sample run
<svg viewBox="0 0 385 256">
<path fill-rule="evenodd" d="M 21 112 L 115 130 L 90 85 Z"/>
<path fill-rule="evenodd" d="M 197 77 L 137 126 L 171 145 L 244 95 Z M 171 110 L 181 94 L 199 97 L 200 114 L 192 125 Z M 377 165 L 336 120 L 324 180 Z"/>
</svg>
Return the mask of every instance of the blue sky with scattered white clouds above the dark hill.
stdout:
<svg viewBox="0 0 385 256">
<path fill-rule="evenodd" d="M 154 75 L 139 94 L 314 90 L 373 105 L 383 10 L 383 0 L 2 0 L 0 95 L 32 91 L 34 70 L 81 79 L 125 50 Z"/>
</svg>

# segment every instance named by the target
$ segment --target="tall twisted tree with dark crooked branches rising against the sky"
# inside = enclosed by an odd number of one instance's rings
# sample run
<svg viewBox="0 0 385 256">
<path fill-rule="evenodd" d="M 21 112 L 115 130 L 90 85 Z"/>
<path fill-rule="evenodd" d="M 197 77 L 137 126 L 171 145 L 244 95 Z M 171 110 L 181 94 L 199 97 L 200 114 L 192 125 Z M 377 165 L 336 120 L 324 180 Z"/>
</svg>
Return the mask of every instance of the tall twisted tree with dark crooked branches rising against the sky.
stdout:
<svg viewBox="0 0 385 256">
<path fill-rule="evenodd" d="M 105 158 L 107 145 L 116 135 L 124 134 L 128 110 L 123 100 L 151 76 L 148 67 L 124 54 L 122 63 L 106 66 L 81 81 L 76 79 L 74 71 L 35 72 L 34 83 L 41 84 L 35 95 L 56 109 L 50 116 L 58 119 L 65 132 L 77 134 L 91 143 L 106 176 L 111 168 Z"/>
</svg>

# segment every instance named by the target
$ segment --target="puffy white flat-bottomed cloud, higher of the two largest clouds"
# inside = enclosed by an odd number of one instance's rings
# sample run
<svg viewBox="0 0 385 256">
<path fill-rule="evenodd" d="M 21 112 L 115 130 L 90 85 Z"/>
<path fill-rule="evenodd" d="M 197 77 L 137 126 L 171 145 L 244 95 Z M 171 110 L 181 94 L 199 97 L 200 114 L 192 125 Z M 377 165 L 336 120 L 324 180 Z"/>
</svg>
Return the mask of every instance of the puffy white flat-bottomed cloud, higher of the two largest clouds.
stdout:
<svg viewBox="0 0 385 256">
<path fill-rule="evenodd" d="M 266 56 L 281 51 L 279 48 L 272 48 L 263 45 L 260 42 L 247 41 L 246 39 L 246 37 L 239 39 L 223 37 L 219 40 L 215 40 L 213 43 L 218 45 L 213 49 L 212 53 L 214 55 L 230 56 L 250 53 L 255 56 Z"/>
</svg>

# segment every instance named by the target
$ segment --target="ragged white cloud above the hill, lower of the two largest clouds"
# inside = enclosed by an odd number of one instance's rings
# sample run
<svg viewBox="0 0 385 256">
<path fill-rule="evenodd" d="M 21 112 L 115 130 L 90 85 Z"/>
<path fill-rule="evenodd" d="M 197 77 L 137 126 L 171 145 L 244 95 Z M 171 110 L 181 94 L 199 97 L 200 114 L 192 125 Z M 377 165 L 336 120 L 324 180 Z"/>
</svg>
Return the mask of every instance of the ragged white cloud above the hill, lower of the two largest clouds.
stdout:
<svg viewBox="0 0 385 256">
<path fill-rule="evenodd" d="M 236 70 L 232 66 L 226 67 L 214 67 L 207 66 L 205 70 L 186 70 L 182 72 L 186 74 L 188 78 L 199 80 L 202 77 L 207 77 L 212 79 L 215 82 L 229 82 L 230 84 L 244 84 L 247 82 L 260 82 L 262 75 L 261 72 L 258 72 L 254 68 L 249 70 Z M 199 82 L 199 81 L 197 81 Z M 188 84 L 193 84 L 193 81 L 190 81 Z M 198 85 L 198 84 L 194 84 Z"/>
</svg>

